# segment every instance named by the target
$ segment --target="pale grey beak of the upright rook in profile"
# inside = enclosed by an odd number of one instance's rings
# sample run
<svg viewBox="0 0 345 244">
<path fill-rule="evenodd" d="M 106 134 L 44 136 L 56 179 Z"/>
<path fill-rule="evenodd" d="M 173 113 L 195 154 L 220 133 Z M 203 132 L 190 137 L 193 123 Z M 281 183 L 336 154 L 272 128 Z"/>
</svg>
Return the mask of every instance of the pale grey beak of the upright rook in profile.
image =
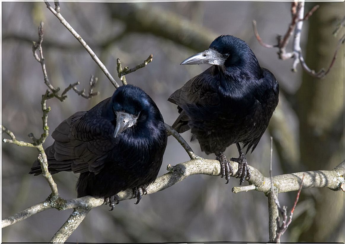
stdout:
<svg viewBox="0 0 345 244">
<path fill-rule="evenodd" d="M 224 65 L 225 59 L 222 55 L 213 49 L 207 49 L 203 52 L 199 52 L 187 59 L 185 59 L 181 65 L 184 64 L 216 64 Z"/>
</svg>

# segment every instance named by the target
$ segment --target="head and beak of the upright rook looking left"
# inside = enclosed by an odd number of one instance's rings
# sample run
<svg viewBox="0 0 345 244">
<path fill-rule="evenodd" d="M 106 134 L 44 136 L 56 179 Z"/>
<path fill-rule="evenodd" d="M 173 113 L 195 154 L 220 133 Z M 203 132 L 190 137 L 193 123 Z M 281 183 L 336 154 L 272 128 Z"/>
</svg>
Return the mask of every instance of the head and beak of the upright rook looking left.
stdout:
<svg viewBox="0 0 345 244">
<path fill-rule="evenodd" d="M 221 35 L 210 44 L 209 49 L 185 59 L 181 64 L 214 64 L 231 68 L 242 67 L 253 58 L 257 62 L 253 51 L 243 40 Z"/>
</svg>

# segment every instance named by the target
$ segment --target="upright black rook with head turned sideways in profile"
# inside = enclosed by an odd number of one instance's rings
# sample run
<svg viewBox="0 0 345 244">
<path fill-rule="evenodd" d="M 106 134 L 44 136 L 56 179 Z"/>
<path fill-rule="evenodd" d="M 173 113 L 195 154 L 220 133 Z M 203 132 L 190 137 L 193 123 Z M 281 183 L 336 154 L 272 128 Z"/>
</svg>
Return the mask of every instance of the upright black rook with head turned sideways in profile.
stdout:
<svg viewBox="0 0 345 244">
<path fill-rule="evenodd" d="M 231 174 L 241 185 L 250 178 L 242 147 L 253 152 L 264 134 L 278 104 L 278 82 L 260 67 L 247 43 L 232 35 L 217 37 L 208 50 L 181 64 L 213 65 L 170 95 L 168 101 L 178 105 L 180 114 L 172 127 L 179 133 L 190 129 L 191 141 L 198 140 L 206 154 L 216 154 L 226 183 Z M 223 153 L 234 143 L 236 173 Z"/>
</svg>

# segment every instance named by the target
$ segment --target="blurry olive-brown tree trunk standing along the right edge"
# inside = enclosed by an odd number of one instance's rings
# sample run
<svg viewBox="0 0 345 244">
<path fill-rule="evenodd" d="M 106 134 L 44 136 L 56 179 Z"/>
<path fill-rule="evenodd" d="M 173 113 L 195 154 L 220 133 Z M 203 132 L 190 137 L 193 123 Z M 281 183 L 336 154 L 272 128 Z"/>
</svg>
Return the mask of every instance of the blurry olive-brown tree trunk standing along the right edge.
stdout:
<svg viewBox="0 0 345 244">
<path fill-rule="evenodd" d="M 332 35 L 344 15 L 344 3 L 318 3 L 320 8 L 309 19 L 306 63 L 315 71 L 328 68 L 339 38 Z M 297 93 L 300 122 L 300 159 L 305 170 L 333 169 L 344 160 L 344 45 L 331 71 L 324 79 L 303 74 Z M 307 193 L 307 191 L 306 191 Z M 344 193 L 313 189 L 309 214 L 295 219 L 292 238 L 298 242 L 329 241 L 344 216 Z M 302 191 L 303 196 L 303 191 Z M 305 195 L 306 196 L 306 195 Z M 298 205 L 297 205 L 298 207 Z M 314 210 L 311 210 L 314 207 Z M 312 214 L 310 214 L 312 213 Z M 306 223 L 309 224 L 306 225 Z M 296 233 L 296 230 L 299 233 Z M 295 233 L 294 233 L 295 232 Z M 334 237 L 333 237 L 334 238 Z M 335 240 L 334 240 L 335 241 Z M 339 240 L 338 240 L 339 241 Z"/>
</svg>

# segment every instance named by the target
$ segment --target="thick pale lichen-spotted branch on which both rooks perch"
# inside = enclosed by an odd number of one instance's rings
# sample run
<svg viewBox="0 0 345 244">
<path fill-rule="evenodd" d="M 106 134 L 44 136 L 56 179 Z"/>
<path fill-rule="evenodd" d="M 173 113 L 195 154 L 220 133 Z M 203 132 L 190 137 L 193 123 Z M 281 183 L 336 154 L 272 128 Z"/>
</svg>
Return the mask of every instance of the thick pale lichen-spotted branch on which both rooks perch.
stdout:
<svg viewBox="0 0 345 244">
<path fill-rule="evenodd" d="M 238 163 L 230 162 L 234 170 L 237 170 Z M 269 177 L 265 177 L 257 169 L 249 166 L 252 172 L 252 177 L 249 183 L 255 186 L 255 190 L 259 192 L 268 193 L 271 189 Z M 193 159 L 184 163 L 179 163 L 175 166 L 168 166 L 169 172 L 158 177 L 154 183 L 147 186 L 147 194 L 153 194 L 168 187 L 183 181 L 188 176 L 195 174 L 205 174 L 218 176 L 220 174 L 220 164 L 217 160 L 209 159 Z M 277 175 L 273 177 L 274 187 L 277 193 L 297 191 L 300 187 L 300 181 L 305 174 L 303 189 L 311 187 L 327 187 L 331 190 L 341 190 L 341 185 L 344 184 L 345 161 L 339 164 L 331 171 L 307 171 L 292 174 Z M 132 189 L 121 191 L 118 193 L 119 201 L 133 199 L 134 194 Z M 97 199 L 91 196 L 85 196 L 78 199 L 63 200 L 60 197 L 53 198 L 30 207 L 18 214 L 12 215 L 2 220 L 2 227 L 17 223 L 32 216 L 36 213 L 50 208 L 58 210 L 74 209 L 82 207 L 84 209 L 92 209 L 102 205 L 104 199 Z"/>
</svg>

